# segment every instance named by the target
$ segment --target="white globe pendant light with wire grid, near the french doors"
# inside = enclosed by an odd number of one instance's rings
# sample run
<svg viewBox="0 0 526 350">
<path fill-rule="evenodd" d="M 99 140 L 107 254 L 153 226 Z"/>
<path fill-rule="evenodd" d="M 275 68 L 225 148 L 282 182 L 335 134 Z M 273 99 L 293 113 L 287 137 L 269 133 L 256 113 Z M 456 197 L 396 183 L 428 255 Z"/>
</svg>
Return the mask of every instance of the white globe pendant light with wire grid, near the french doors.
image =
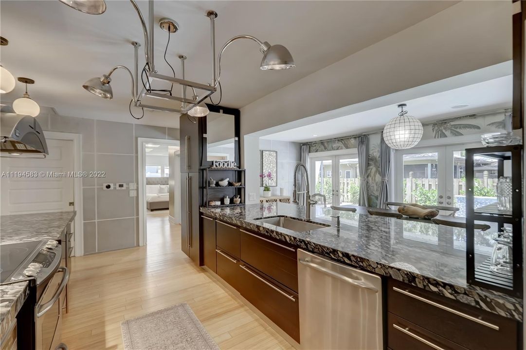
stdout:
<svg viewBox="0 0 526 350">
<path fill-rule="evenodd" d="M 398 117 L 391 119 L 383 128 L 383 139 L 392 149 L 408 149 L 417 145 L 422 138 L 423 127 L 420 120 L 407 115 L 406 104 L 398 105 L 402 110 Z"/>
</svg>

